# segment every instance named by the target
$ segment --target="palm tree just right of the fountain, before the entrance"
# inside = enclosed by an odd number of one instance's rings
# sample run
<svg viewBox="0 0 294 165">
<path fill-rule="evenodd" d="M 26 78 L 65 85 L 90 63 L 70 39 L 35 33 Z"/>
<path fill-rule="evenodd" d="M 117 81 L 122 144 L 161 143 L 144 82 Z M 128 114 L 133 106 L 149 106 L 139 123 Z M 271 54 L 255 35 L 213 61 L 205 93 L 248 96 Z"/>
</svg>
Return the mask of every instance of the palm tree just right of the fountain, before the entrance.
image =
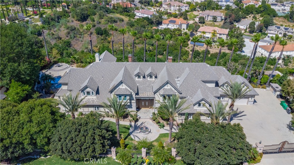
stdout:
<svg viewBox="0 0 294 165">
<path fill-rule="evenodd" d="M 172 95 L 171 97 L 166 97 L 166 100 L 161 102 L 160 100 L 156 100 L 160 106 L 154 107 L 156 110 L 164 112 L 167 118 L 169 118 L 169 136 L 168 142 L 171 142 L 171 133 L 173 130 L 173 119 L 181 113 L 183 110 L 187 110 L 190 105 L 187 107 L 183 107 L 186 103 L 187 99 L 182 99 L 179 101 L 179 95 Z"/>
</svg>

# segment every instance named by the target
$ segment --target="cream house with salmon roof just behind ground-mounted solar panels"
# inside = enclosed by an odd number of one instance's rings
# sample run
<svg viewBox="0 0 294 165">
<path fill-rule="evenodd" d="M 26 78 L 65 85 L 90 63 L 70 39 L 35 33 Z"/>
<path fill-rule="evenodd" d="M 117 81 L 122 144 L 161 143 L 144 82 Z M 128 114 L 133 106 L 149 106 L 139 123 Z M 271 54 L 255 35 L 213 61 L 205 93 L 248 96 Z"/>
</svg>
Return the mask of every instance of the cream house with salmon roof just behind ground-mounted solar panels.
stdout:
<svg viewBox="0 0 294 165">
<path fill-rule="evenodd" d="M 211 38 L 211 34 L 212 34 L 213 30 L 216 31 L 217 38 L 227 39 L 228 33 L 229 33 L 229 30 L 228 29 L 222 29 L 222 28 L 211 27 L 211 26 L 203 26 L 203 27 L 200 27 L 198 29 L 196 35 L 203 36 L 203 33 L 202 32 L 204 31 L 205 32 L 204 38 Z"/>
</svg>

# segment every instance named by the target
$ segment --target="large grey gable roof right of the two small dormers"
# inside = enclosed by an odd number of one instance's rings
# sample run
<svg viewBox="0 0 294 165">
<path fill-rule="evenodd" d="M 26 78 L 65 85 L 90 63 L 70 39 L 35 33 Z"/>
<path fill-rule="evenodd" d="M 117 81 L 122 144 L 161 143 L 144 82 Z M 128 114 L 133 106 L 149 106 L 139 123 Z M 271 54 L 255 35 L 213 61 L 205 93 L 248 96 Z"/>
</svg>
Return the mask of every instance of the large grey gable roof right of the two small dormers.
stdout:
<svg viewBox="0 0 294 165">
<path fill-rule="evenodd" d="M 166 66 L 164 66 L 161 73 L 158 75 L 158 78 L 155 80 L 153 84 L 153 92 L 155 93 L 160 87 L 162 87 L 166 83 L 169 83 L 179 93 L 182 93 L 181 90 L 178 88 L 175 78 L 170 73 L 170 71 L 166 68 Z"/>
</svg>

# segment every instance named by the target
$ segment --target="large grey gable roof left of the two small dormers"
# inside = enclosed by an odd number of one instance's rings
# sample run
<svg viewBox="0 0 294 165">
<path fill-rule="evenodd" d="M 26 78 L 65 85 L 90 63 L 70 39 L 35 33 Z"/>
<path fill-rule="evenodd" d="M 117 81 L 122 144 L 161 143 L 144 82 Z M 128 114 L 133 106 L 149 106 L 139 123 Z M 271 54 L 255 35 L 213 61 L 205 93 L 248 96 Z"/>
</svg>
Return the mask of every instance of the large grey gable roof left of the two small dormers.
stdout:
<svg viewBox="0 0 294 165">
<path fill-rule="evenodd" d="M 123 82 L 125 85 L 127 85 L 129 88 L 131 88 L 131 90 L 133 90 L 135 93 L 137 93 L 137 91 L 138 91 L 137 83 L 136 83 L 133 75 L 131 75 L 128 68 L 126 68 L 126 66 L 124 66 L 122 68 L 122 70 L 118 73 L 116 78 L 112 81 L 108 92 L 113 90 L 113 88 L 116 87 L 116 85 L 118 85 L 121 82 Z"/>
</svg>

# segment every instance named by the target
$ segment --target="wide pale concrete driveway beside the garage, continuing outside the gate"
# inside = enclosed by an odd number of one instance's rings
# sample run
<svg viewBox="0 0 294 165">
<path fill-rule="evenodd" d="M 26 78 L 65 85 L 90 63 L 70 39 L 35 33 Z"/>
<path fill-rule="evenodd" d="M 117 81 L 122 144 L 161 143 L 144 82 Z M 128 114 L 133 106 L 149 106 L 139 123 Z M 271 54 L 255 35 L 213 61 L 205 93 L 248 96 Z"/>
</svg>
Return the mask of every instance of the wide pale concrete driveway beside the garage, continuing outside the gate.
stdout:
<svg viewBox="0 0 294 165">
<path fill-rule="evenodd" d="M 294 143 L 293 131 L 287 128 L 291 115 L 280 106 L 279 100 L 269 91 L 255 88 L 259 96 L 254 105 L 235 105 L 240 114 L 231 123 L 240 123 L 247 141 L 255 144 L 260 140 L 264 145 L 279 144 L 287 140 Z M 242 112 L 243 111 L 243 112 Z M 259 165 L 293 165 L 294 153 L 265 154 Z"/>
</svg>

